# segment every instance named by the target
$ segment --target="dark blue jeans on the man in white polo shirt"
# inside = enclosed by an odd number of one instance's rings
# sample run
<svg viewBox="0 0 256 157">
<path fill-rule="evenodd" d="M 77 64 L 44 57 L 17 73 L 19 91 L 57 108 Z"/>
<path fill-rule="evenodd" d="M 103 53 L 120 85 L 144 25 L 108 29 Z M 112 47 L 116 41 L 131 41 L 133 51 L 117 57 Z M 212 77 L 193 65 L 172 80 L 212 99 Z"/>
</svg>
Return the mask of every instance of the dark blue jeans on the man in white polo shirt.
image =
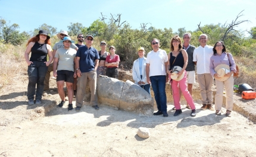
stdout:
<svg viewBox="0 0 256 157">
<path fill-rule="evenodd" d="M 150 76 L 151 86 L 157 102 L 157 109 L 167 112 L 166 75 Z"/>
</svg>

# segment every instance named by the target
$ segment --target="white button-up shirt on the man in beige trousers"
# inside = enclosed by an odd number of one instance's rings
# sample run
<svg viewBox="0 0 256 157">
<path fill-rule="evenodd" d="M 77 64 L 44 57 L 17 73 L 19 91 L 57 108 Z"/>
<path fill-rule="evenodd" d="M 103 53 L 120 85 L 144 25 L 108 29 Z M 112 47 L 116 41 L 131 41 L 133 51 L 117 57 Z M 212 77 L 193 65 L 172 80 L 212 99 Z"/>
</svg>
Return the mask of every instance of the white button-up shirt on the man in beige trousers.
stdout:
<svg viewBox="0 0 256 157">
<path fill-rule="evenodd" d="M 196 62 L 196 73 L 210 73 L 210 58 L 213 56 L 213 46 L 199 46 L 193 51 L 193 62 Z"/>
</svg>

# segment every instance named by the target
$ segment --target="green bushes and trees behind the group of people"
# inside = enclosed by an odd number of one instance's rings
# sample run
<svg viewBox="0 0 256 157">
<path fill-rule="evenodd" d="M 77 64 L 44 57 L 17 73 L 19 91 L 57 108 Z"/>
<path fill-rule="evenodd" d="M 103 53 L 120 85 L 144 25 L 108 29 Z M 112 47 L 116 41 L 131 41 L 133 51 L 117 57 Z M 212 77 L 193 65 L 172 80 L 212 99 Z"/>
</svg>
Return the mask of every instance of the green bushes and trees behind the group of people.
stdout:
<svg viewBox="0 0 256 157">
<path fill-rule="evenodd" d="M 121 25 L 115 23 L 115 20 L 110 19 L 108 22 L 104 20 L 95 20 L 89 27 L 84 27 L 81 23 L 70 23 L 67 26 L 68 34 L 71 39 L 77 40 L 77 34 L 91 34 L 95 37 L 93 41 L 93 47 L 100 50 L 100 41 L 106 41 L 108 46 L 113 45 L 116 48 L 116 53 L 120 56 L 121 63 L 125 69 L 131 69 L 133 61 L 138 58 L 137 49 L 142 46 L 145 47 L 146 53 L 152 50 L 151 40 L 157 38 L 160 40 L 160 48 L 170 52 L 170 39 L 175 34 L 178 34 L 181 38 L 183 34 L 189 32 L 192 34 L 191 44 L 198 47 L 198 37 L 204 33 L 208 36 L 208 45 L 213 46 L 217 41 L 223 40 L 226 45 L 227 52 L 232 53 L 235 56 L 236 63 L 241 69 L 240 79 L 235 79 L 235 84 L 243 83 L 243 79 L 255 80 L 256 71 L 256 27 L 252 27 L 251 30 L 236 30 L 232 28 L 227 32 L 227 24 L 206 24 L 204 26 L 198 26 L 194 31 L 186 30 L 186 25 L 183 25 L 177 31 L 173 31 L 171 25 L 169 28 L 155 28 L 150 23 L 143 23 L 139 28 L 132 28 L 129 23 L 122 23 Z M 236 25 L 235 27 L 237 27 Z M 167 26 L 168 27 L 168 26 Z M 32 31 L 18 31 L 18 24 L 10 24 L 3 18 L 0 18 L 0 53 L 1 55 L 7 52 L 8 47 L 14 46 L 13 55 L 20 57 L 19 52 L 15 53 L 15 50 L 25 50 L 27 40 L 30 37 L 38 34 L 40 29 L 46 30 L 51 36 L 52 46 L 58 41 L 56 34 L 61 31 L 57 28 L 42 24 L 38 28 Z M 226 36 L 225 36 L 226 33 Z M 245 36 L 245 33 L 249 36 Z M 224 37 L 224 38 L 223 38 Z M 23 51 L 24 52 L 24 51 Z M 248 80 L 249 81 L 249 80 Z M 255 82 L 255 81 L 254 81 Z M 251 83 L 251 86 L 256 86 L 255 83 Z"/>
</svg>

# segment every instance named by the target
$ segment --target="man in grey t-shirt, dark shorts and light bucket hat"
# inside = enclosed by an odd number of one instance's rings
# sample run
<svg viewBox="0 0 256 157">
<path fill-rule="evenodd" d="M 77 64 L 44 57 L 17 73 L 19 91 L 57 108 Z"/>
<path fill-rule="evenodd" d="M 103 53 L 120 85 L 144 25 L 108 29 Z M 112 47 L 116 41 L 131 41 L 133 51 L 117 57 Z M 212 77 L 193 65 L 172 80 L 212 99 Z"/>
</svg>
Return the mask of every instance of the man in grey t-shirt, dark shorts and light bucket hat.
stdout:
<svg viewBox="0 0 256 157">
<path fill-rule="evenodd" d="M 54 77 L 57 77 L 58 93 L 61 98 L 58 107 L 63 107 L 65 103 L 65 92 L 64 92 L 64 82 L 68 90 L 68 111 L 73 110 L 73 82 L 76 78 L 76 73 L 74 73 L 74 59 L 76 57 L 76 50 L 71 49 L 71 43 L 74 43 L 70 37 L 64 37 L 61 40 L 64 47 L 60 47 L 54 56 Z M 57 69 L 57 72 L 56 72 Z"/>
</svg>

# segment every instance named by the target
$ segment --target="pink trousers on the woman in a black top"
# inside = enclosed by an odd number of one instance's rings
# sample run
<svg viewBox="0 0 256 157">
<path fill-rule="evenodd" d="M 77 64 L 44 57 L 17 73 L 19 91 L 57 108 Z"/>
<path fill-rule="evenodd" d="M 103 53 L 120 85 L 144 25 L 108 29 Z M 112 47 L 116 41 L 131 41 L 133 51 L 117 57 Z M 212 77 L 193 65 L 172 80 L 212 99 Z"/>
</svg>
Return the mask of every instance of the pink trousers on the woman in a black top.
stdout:
<svg viewBox="0 0 256 157">
<path fill-rule="evenodd" d="M 180 81 L 175 81 L 175 80 L 171 81 L 171 90 L 173 91 L 174 107 L 176 108 L 176 110 L 180 110 L 180 93 L 179 93 L 179 87 L 180 87 L 180 90 L 182 91 L 182 94 L 185 100 L 193 110 L 195 109 L 195 104 L 193 102 L 191 94 L 189 94 L 188 86 L 186 85 L 187 73 L 186 71 L 184 72 L 185 72 L 185 75 L 183 79 L 181 79 Z"/>
</svg>

